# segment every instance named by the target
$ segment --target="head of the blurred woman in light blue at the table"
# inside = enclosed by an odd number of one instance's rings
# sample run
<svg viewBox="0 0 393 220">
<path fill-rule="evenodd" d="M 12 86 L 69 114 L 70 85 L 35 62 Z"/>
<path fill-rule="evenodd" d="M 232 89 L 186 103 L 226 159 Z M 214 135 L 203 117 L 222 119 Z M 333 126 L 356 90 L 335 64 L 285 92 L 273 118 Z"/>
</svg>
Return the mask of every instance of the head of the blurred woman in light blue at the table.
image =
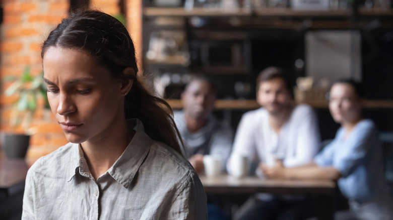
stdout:
<svg viewBox="0 0 393 220">
<path fill-rule="evenodd" d="M 353 122 L 359 119 L 361 101 L 352 85 L 336 83 L 332 86 L 329 109 L 337 123 Z"/>
</svg>

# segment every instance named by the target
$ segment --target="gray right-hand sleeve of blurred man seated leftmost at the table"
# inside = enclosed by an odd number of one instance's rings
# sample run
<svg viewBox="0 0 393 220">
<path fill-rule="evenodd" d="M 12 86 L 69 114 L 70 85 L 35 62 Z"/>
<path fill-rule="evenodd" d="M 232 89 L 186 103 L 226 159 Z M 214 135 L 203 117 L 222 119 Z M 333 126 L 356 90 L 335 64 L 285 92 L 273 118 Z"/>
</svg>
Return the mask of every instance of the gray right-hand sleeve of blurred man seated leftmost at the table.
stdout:
<svg viewBox="0 0 393 220">
<path fill-rule="evenodd" d="M 228 161 L 233 144 L 233 131 L 221 127 L 213 134 L 210 154 L 220 155 L 222 160 L 222 169 L 225 170 L 225 164 Z"/>
</svg>

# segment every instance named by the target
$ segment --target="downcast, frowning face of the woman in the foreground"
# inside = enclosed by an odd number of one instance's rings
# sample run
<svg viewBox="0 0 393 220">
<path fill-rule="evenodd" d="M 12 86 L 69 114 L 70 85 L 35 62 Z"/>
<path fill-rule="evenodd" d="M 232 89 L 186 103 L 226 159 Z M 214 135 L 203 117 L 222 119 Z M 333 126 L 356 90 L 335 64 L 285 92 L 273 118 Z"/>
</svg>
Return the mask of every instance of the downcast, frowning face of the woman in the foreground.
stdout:
<svg viewBox="0 0 393 220">
<path fill-rule="evenodd" d="M 50 108 L 68 141 L 99 141 L 124 120 L 121 81 L 87 53 L 50 47 L 42 62 Z"/>
</svg>

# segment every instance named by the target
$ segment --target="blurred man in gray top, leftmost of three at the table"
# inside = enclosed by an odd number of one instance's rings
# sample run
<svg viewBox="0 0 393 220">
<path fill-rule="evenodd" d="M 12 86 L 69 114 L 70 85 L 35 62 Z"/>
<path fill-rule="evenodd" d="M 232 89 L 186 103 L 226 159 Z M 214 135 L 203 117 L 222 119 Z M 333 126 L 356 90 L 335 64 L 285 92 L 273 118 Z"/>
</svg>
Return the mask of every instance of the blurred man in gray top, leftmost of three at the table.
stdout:
<svg viewBox="0 0 393 220">
<path fill-rule="evenodd" d="M 217 89 L 210 80 L 194 78 L 181 94 L 183 110 L 173 113 L 184 156 L 198 173 L 204 170 L 204 155 L 220 155 L 224 169 L 231 152 L 233 131 L 212 114 L 216 97 Z"/>
</svg>

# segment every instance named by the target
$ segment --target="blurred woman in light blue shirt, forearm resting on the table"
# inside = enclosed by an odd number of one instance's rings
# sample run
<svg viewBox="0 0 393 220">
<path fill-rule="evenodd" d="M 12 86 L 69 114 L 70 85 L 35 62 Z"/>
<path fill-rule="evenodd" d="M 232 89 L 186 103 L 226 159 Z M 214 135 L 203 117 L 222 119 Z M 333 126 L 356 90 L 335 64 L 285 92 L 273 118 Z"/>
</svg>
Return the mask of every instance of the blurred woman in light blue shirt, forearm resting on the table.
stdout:
<svg viewBox="0 0 393 220">
<path fill-rule="evenodd" d="M 377 129 L 363 119 L 360 85 L 353 80 L 336 82 L 330 91 L 329 109 L 341 124 L 335 139 L 314 159 L 299 167 L 267 167 L 271 178 L 338 180 L 350 211 L 336 219 L 393 219 L 393 204 L 385 182 L 382 148 Z"/>
</svg>

